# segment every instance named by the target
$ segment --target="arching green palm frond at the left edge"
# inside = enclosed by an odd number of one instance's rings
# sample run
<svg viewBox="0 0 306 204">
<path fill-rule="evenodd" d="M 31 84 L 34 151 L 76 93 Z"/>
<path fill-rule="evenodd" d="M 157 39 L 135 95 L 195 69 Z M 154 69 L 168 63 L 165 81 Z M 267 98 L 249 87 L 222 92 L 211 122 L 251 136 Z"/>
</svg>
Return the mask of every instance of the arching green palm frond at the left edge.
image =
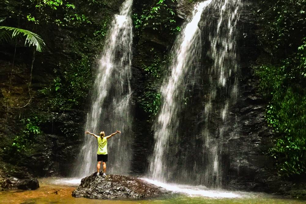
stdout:
<svg viewBox="0 0 306 204">
<path fill-rule="evenodd" d="M 0 33 L 0 41 L 2 36 L 5 37 L 5 39 L 7 39 L 7 33 L 3 32 L 3 30 L 6 30 L 13 32 L 10 37 L 11 39 L 23 34 L 23 36 L 26 36 L 24 46 L 26 46 L 27 43 L 29 44 L 29 46 L 31 45 L 36 46 L 36 50 L 39 52 L 41 52 L 43 50 L 43 47 L 46 45 L 45 42 L 43 42 L 43 39 L 41 39 L 39 35 L 31 31 L 24 30 L 21 28 L 8 27 L 8 26 L 0 26 L 0 29 L 2 29 L 1 33 L 3 33 L 3 35 L 1 35 Z"/>
</svg>

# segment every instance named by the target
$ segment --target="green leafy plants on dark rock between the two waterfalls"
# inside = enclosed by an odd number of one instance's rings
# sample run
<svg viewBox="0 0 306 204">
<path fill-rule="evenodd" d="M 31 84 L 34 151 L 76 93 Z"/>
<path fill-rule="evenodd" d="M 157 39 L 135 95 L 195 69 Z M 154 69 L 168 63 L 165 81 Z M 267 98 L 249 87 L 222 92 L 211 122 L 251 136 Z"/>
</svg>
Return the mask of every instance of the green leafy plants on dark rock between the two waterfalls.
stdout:
<svg viewBox="0 0 306 204">
<path fill-rule="evenodd" d="M 176 0 L 153 0 L 142 3 L 132 15 L 136 38 L 147 30 L 153 34 L 152 38 L 154 38 L 154 33 L 158 33 L 165 37 L 170 35 L 174 39 L 175 35 L 181 31 L 180 22 L 177 22 L 175 5 Z M 147 83 L 144 85 L 140 98 L 140 107 L 152 119 L 152 116 L 158 113 L 161 105 L 159 87 L 168 58 L 165 53 L 161 53 L 161 50 L 156 49 L 153 45 L 145 51 L 151 56 L 147 61 L 142 61 L 140 65 L 147 76 Z"/>
</svg>

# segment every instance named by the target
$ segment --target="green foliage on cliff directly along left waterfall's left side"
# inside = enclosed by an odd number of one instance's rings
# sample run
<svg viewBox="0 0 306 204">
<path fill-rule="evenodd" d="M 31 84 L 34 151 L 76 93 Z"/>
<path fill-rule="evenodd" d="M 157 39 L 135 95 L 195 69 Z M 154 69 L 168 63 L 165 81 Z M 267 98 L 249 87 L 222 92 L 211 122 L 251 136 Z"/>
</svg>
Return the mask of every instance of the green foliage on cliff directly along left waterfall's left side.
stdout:
<svg viewBox="0 0 306 204">
<path fill-rule="evenodd" d="M 71 36 L 75 40 L 70 42 L 67 49 L 72 53 L 72 58 L 64 65 L 59 64 L 54 69 L 55 77 L 50 86 L 40 90 L 49 98 L 45 108 L 52 111 L 81 109 L 87 105 L 89 87 L 93 83 L 91 68 L 94 58 L 103 47 L 102 43 L 112 15 L 105 12 L 107 7 L 103 10 L 105 7 L 103 3 L 101 5 L 94 1 L 90 3 L 95 7 L 102 7 L 103 19 L 99 18 L 99 21 L 96 21 L 93 16 L 88 16 L 92 23 L 80 27 L 79 31 Z"/>
</svg>

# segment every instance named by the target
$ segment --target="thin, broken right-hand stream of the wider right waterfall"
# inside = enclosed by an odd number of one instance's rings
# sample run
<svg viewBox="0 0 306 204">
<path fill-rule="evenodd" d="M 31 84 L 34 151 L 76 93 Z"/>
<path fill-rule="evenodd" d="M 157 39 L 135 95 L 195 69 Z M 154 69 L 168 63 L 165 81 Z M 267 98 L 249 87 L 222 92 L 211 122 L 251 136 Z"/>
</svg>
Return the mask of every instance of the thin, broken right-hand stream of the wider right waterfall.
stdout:
<svg viewBox="0 0 306 204">
<path fill-rule="evenodd" d="M 237 21 L 241 0 L 214 1 L 212 6 L 219 15 L 215 28 L 210 31 L 210 49 L 207 56 L 213 63 L 208 69 L 208 101 L 205 103 L 203 145 L 207 157 L 204 167 L 204 183 L 214 187 L 222 184 L 222 142 L 237 133 L 234 121 L 228 121 L 229 107 L 238 95 Z M 204 21 L 204 25 L 210 22 Z M 211 121 L 218 121 L 210 128 Z M 224 162 L 224 161 L 223 161 Z"/>
</svg>

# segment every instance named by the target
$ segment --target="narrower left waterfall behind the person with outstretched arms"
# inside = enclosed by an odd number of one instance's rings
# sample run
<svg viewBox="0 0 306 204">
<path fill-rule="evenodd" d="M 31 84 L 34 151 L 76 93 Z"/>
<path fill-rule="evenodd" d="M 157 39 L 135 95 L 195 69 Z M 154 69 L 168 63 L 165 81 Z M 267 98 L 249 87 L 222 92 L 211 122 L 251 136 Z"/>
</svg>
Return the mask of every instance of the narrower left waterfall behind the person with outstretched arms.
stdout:
<svg viewBox="0 0 306 204">
<path fill-rule="evenodd" d="M 132 0 L 126 0 L 120 14 L 114 16 L 111 28 L 99 60 L 91 96 L 91 110 L 86 129 L 99 135 L 110 135 L 121 130 L 108 140 L 107 173 L 127 174 L 132 158 L 131 143 L 131 58 L 132 58 Z M 85 132 L 85 130 L 84 130 Z M 73 169 L 74 177 L 84 177 L 96 171 L 97 139 L 84 134 L 84 146 L 80 150 Z"/>
</svg>

